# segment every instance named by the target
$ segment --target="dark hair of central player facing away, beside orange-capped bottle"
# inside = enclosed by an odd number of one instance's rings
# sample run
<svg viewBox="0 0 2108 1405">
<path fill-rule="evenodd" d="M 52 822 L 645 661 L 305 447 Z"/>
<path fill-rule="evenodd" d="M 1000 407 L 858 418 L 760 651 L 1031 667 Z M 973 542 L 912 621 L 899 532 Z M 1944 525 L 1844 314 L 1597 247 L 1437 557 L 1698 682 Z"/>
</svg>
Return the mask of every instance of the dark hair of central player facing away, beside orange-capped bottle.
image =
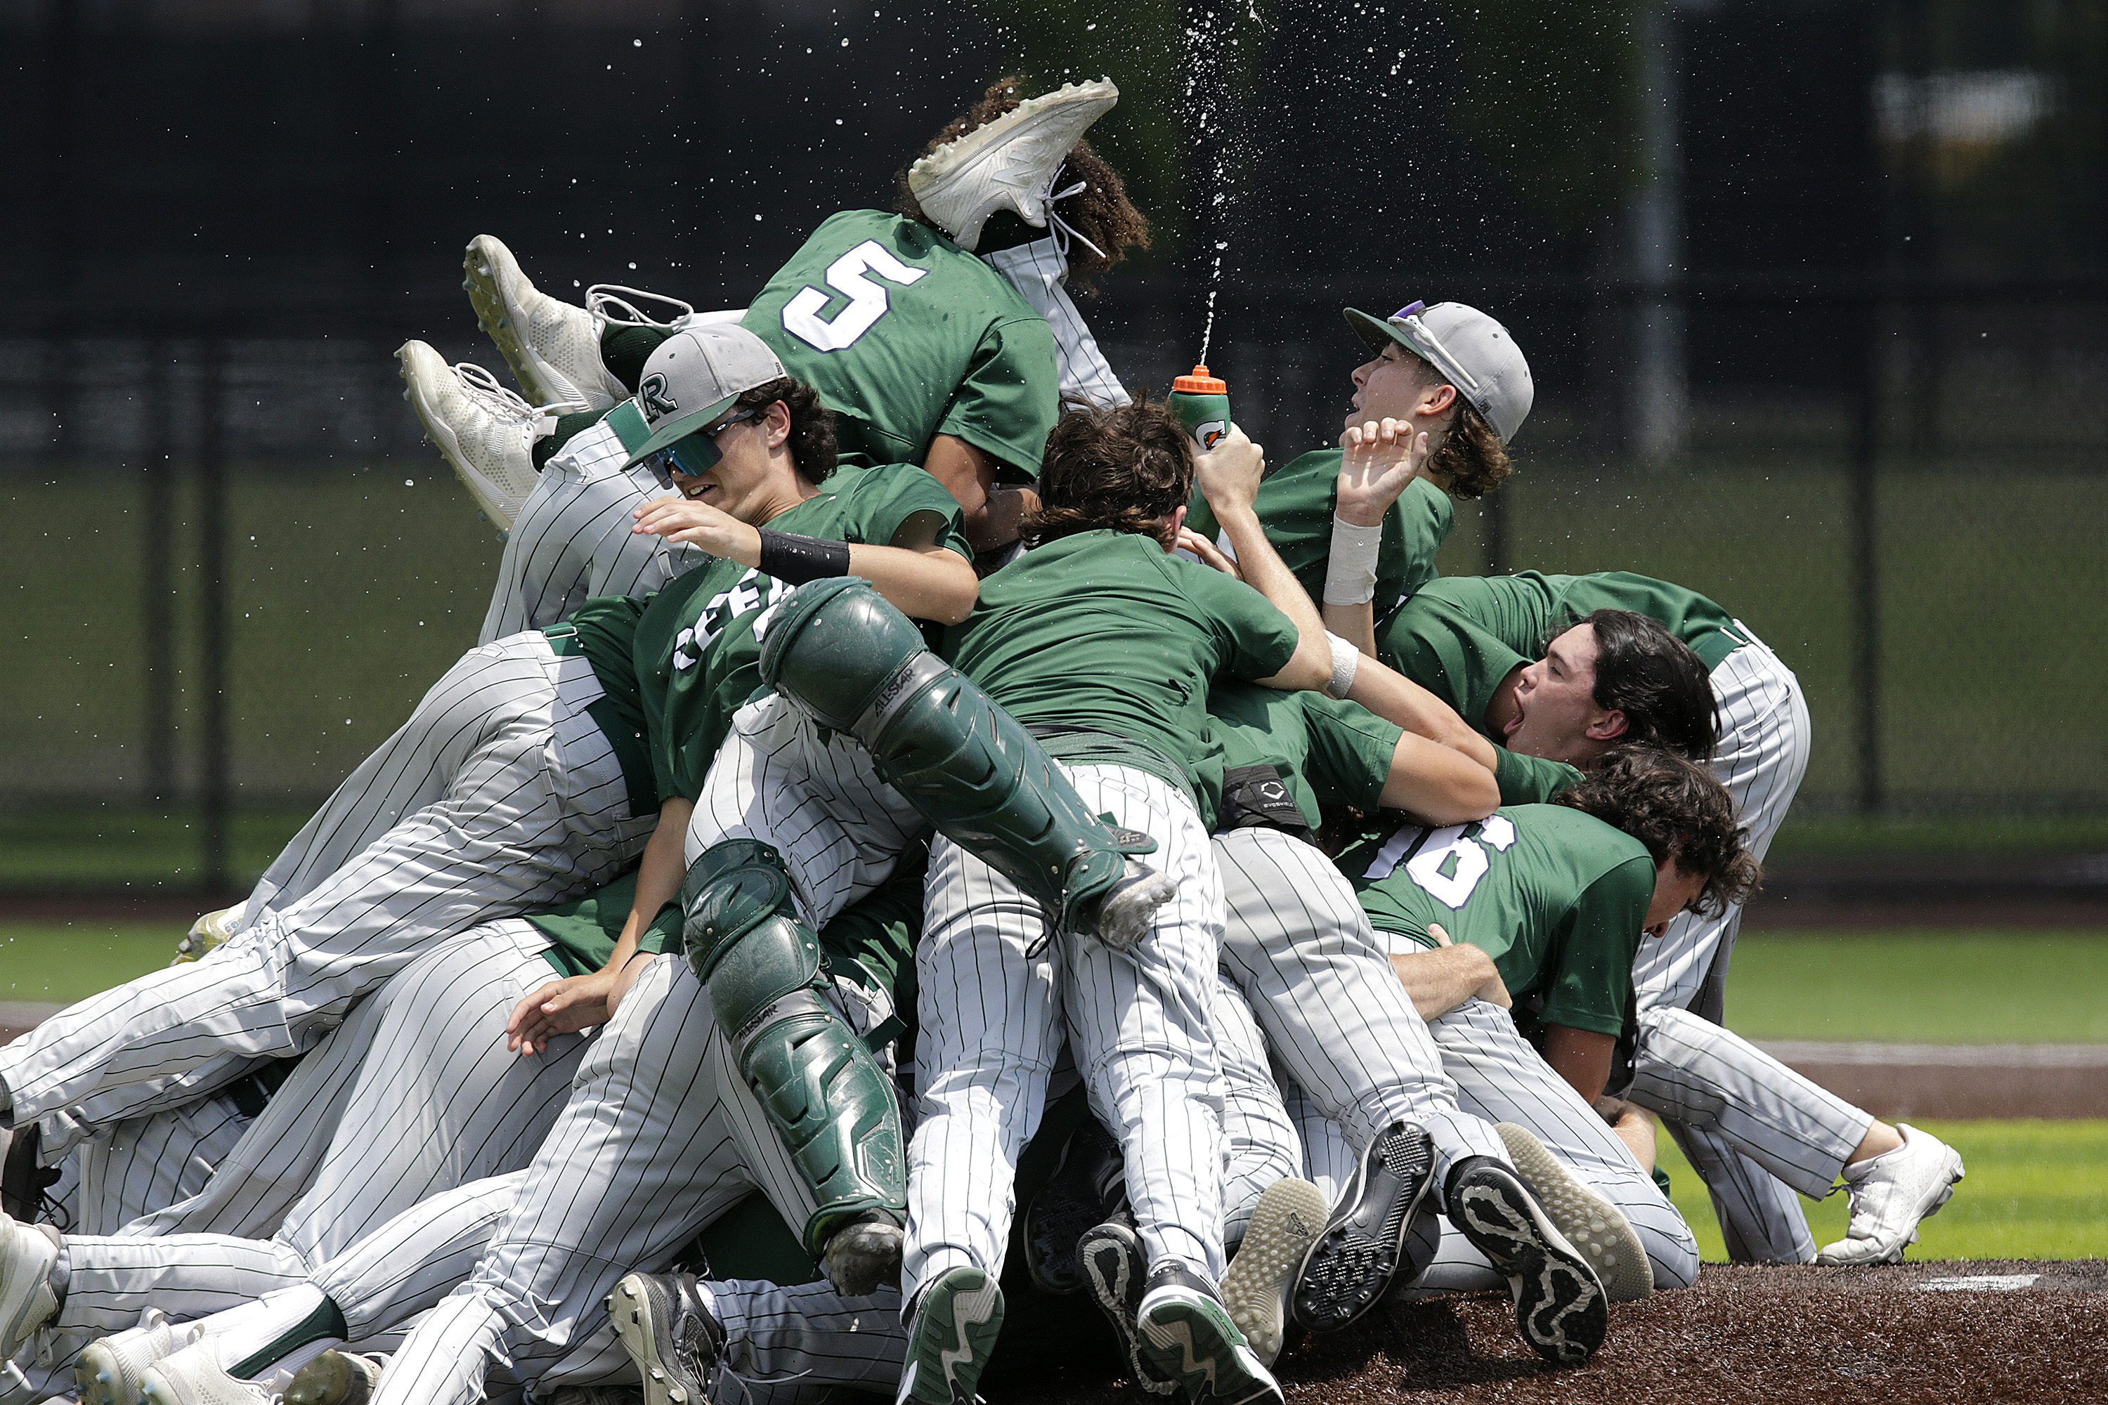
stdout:
<svg viewBox="0 0 2108 1405">
<path fill-rule="evenodd" d="M 1132 531 L 1170 546 L 1172 514 L 1193 497 L 1193 440 L 1178 417 L 1147 390 L 1134 404 L 1062 411 L 1039 459 L 1039 510 L 1024 518 L 1024 539 Z"/>
</svg>

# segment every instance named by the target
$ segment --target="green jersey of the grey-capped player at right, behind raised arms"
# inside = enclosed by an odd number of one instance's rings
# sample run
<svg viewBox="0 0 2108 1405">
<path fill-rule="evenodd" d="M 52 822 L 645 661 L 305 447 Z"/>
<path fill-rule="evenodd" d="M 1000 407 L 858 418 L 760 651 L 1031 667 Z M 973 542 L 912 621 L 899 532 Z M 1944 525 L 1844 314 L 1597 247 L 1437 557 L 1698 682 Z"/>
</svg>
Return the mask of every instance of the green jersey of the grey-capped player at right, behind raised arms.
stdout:
<svg viewBox="0 0 2108 1405">
<path fill-rule="evenodd" d="M 1324 573 L 1332 556 L 1332 518 L 1339 512 L 1339 449 L 1318 449 L 1267 474 L 1258 484 L 1258 522 L 1282 562 L 1296 573 L 1311 600 L 1324 600 Z M 1221 539 L 1208 499 L 1193 493 L 1187 527 Z M 1436 577 L 1436 552 L 1457 527 L 1448 493 L 1414 478 L 1383 514 L 1377 548 L 1377 613 Z"/>
</svg>

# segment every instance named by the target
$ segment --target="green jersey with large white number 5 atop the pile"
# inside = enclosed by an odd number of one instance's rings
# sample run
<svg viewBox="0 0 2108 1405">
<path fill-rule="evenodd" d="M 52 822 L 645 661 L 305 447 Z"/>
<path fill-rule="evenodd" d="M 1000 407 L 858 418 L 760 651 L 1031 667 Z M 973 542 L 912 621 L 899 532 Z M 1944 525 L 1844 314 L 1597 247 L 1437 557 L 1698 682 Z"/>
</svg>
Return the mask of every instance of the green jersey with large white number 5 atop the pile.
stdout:
<svg viewBox="0 0 2108 1405">
<path fill-rule="evenodd" d="M 921 463 L 953 434 L 1039 472 L 1060 413 L 1054 333 L 1001 274 L 879 211 L 826 219 L 742 320 L 835 411 L 843 463 Z"/>
</svg>

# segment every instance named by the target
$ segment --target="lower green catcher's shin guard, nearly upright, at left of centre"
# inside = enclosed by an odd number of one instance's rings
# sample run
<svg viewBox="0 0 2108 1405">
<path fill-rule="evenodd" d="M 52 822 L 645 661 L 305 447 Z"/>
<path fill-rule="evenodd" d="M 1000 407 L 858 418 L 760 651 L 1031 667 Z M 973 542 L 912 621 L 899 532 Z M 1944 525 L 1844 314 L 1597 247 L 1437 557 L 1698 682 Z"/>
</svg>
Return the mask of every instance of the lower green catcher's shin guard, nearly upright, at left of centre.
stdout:
<svg viewBox="0 0 2108 1405">
<path fill-rule="evenodd" d="M 822 998 L 820 942 L 797 916 L 782 857 L 753 838 L 713 845 L 681 885 L 687 961 L 731 1041 L 740 1076 L 812 1188 L 805 1247 L 875 1213 L 906 1213 L 894 1089 Z"/>
</svg>

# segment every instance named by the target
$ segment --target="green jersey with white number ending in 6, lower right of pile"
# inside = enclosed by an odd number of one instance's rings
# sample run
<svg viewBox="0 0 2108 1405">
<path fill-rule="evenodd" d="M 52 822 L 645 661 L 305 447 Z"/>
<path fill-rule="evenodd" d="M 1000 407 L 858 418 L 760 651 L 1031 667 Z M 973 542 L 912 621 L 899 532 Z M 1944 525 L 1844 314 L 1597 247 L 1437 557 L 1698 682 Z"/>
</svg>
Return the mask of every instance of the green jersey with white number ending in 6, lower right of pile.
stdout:
<svg viewBox="0 0 2108 1405">
<path fill-rule="evenodd" d="M 1617 1036 L 1655 899 L 1646 845 L 1562 805 L 1465 826 L 1406 824 L 1339 857 L 1377 931 L 1436 946 L 1429 923 L 1492 956 L 1516 1007 Z"/>
</svg>

